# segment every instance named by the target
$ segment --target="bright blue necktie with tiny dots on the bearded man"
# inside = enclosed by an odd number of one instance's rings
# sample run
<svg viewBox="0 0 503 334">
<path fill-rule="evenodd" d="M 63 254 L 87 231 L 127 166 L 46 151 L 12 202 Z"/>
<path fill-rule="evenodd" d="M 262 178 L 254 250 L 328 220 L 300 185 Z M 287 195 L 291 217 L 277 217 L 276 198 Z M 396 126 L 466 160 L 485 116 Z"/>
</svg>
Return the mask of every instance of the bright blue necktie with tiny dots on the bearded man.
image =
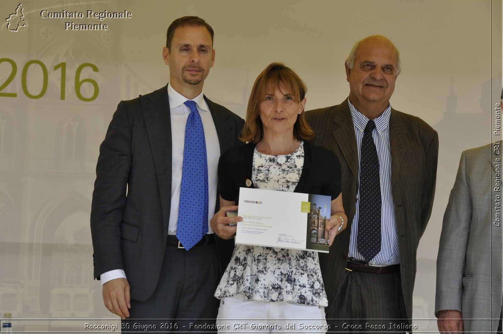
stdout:
<svg viewBox="0 0 503 334">
<path fill-rule="evenodd" d="M 187 118 L 177 238 L 186 250 L 208 233 L 208 164 L 201 116 L 194 101 L 184 103 Z"/>
</svg>

